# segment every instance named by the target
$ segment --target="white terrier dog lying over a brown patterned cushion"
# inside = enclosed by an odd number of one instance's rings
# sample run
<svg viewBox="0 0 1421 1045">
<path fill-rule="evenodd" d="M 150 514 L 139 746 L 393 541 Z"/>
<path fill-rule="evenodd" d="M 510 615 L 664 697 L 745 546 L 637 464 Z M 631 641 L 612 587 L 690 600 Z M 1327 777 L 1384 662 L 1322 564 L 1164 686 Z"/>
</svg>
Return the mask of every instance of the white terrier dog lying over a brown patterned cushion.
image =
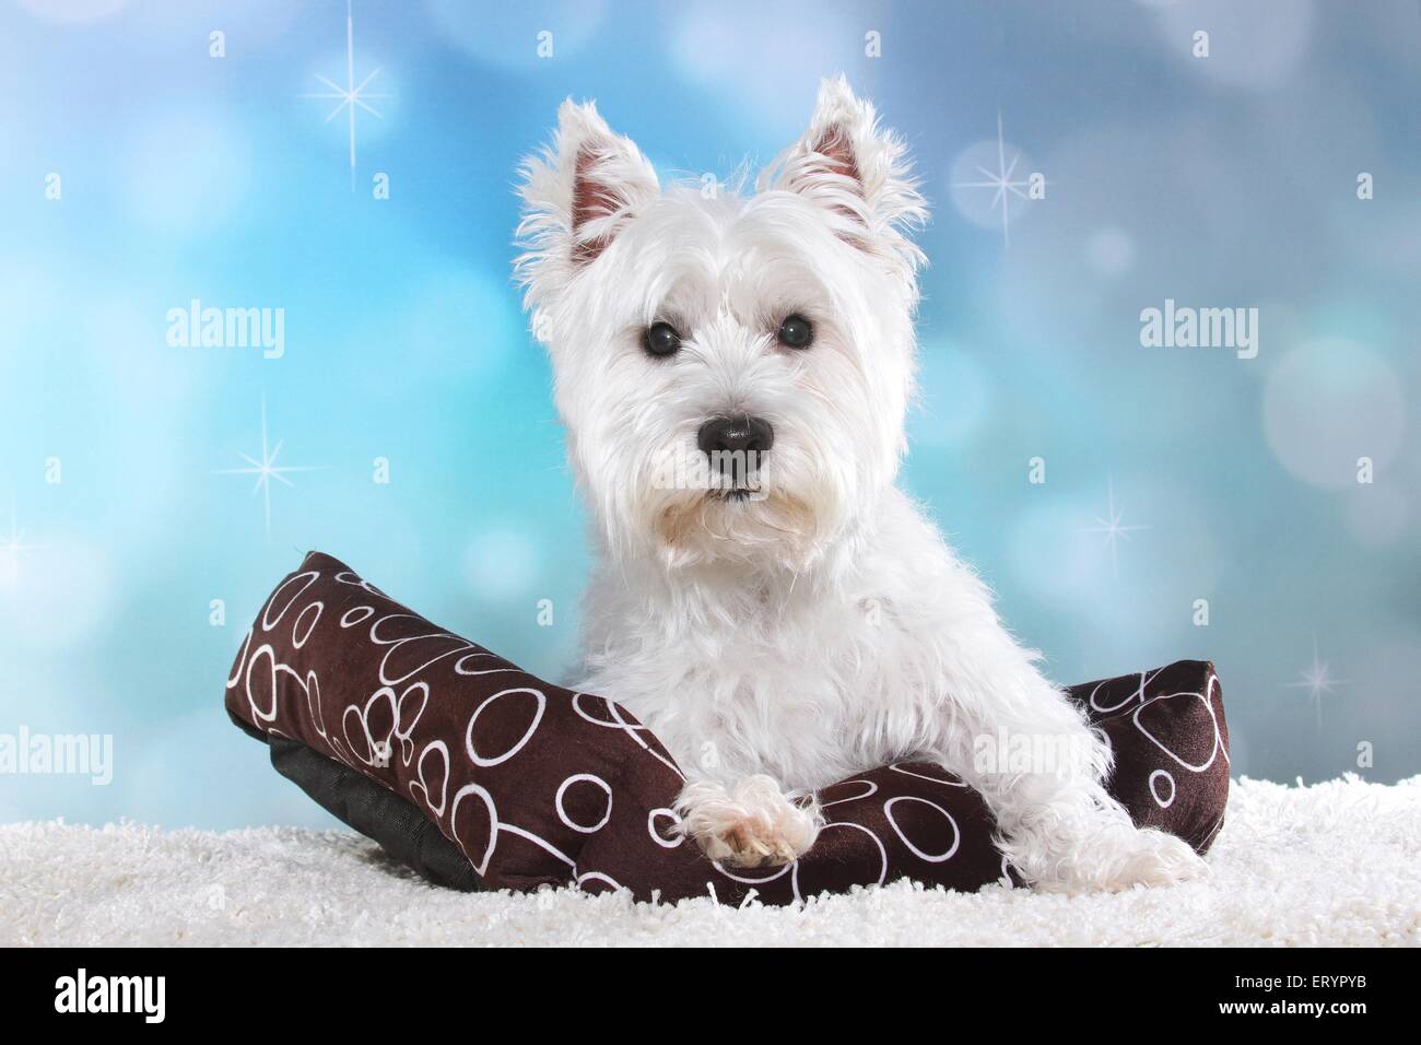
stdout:
<svg viewBox="0 0 1421 1045">
<path fill-rule="evenodd" d="M 1202 874 L 1110 798 L 1106 741 L 894 485 L 926 209 L 872 107 L 826 81 L 745 195 L 662 189 L 567 101 L 523 179 L 517 274 L 597 522 L 578 685 L 676 756 L 706 854 L 794 860 L 823 825 L 810 792 L 912 756 L 982 793 L 1040 887 Z M 982 765 L 1003 736 L 1069 763 Z"/>
</svg>

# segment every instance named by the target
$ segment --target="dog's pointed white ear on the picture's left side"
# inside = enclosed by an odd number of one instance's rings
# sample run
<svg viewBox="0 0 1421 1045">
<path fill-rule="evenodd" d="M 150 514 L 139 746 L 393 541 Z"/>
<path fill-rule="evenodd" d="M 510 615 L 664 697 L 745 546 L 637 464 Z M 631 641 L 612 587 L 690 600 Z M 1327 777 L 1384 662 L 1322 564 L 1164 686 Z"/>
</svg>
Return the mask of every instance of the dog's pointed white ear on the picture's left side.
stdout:
<svg viewBox="0 0 1421 1045">
<path fill-rule="evenodd" d="M 520 169 L 523 220 L 514 262 L 526 304 L 546 309 L 557 291 L 657 198 L 657 172 L 630 138 L 612 134 L 594 102 L 557 109 L 553 144 Z"/>
</svg>

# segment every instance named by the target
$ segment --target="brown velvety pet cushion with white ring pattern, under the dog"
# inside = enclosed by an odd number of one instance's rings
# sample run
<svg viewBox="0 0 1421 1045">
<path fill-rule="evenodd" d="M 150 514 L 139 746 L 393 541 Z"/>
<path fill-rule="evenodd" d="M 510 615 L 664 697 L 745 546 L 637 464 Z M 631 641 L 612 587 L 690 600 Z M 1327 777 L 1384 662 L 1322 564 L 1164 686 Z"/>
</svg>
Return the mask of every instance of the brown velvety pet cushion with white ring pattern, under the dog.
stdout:
<svg viewBox="0 0 1421 1045">
<path fill-rule="evenodd" d="M 1214 665 L 1179 661 L 1077 685 L 1115 749 L 1111 791 L 1138 823 L 1204 852 L 1228 798 Z M 784 867 L 708 860 L 675 830 L 675 761 L 625 708 L 550 685 L 401 606 L 320 552 L 263 606 L 227 711 L 317 800 L 442 884 L 627 887 L 787 903 L 911 877 L 973 890 L 1010 877 L 982 799 L 899 763 L 820 792 L 828 825 Z M 436 836 L 429 825 L 433 825 Z"/>
</svg>

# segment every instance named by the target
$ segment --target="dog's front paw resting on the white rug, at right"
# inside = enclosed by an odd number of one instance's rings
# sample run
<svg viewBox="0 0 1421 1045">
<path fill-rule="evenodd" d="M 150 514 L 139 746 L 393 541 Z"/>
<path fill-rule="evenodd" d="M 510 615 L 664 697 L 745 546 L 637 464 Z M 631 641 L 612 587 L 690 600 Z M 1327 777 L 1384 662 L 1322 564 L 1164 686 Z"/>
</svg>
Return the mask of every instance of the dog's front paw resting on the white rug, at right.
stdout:
<svg viewBox="0 0 1421 1045">
<path fill-rule="evenodd" d="M 1023 864 L 1037 889 L 1057 893 L 1175 886 L 1209 876 L 1209 864 L 1184 839 L 1115 823 L 1090 832 L 1066 852 L 1026 852 Z"/>
</svg>

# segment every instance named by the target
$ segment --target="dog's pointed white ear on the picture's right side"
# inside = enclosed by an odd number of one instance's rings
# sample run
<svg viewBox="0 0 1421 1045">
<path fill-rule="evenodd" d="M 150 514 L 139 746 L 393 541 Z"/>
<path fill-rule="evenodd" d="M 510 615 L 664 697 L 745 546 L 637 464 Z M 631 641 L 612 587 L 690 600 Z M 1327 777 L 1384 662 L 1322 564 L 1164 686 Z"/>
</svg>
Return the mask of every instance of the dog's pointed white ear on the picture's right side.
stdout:
<svg viewBox="0 0 1421 1045">
<path fill-rule="evenodd" d="M 810 199 L 841 237 L 911 273 L 924 254 L 908 233 L 926 222 L 928 206 L 907 152 L 840 75 L 820 84 L 809 129 L 760 175 L 759 189 Z"/>
</svg>

